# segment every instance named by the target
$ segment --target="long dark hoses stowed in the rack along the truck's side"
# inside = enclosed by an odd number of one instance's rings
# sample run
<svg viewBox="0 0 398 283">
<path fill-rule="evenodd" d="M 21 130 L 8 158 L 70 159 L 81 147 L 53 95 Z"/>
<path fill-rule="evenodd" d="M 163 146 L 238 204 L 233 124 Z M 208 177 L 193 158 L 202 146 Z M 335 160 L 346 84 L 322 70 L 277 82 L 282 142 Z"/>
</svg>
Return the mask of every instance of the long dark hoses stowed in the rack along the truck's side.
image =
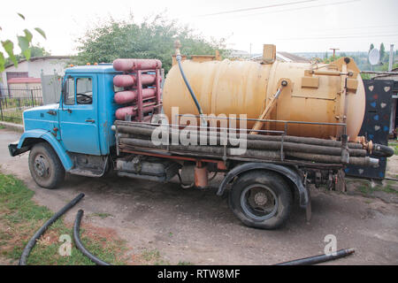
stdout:
<svg viewBox="0 0 398 283">
<path fill-rule="evenodd" d="M 150 141 L 153 131 L 157 128 L 157 126 L 150 126 L 146 124 L 128 124 L 128 122 L 117 121 L 116 126 L 118 128 L 119 133 L 119 142 L 121 145 L 126 145 L 130 147 L 138 147 L 138 148 L 149 148 L 149 149 L 167 149 L 172 151 L 182 151 L 182 152 L 196 152 L 198 154 L 212 155 L 215 157 L 223 157 L 223 156 L 233 156 L 232 149 L 236 147 L 241 140 L 238 138 L 229 138 L 224 140 L 224 137 L 220 133 L 206 133 L 205 139 L 207 144 L 210 145 L 182 145 L 182 144 L 172 144 L 170 141 L 172 140 L 172 130 L 166 132 L 169 134 L 169 145 L 160 145 L 157 146 L 153 142 Z M 334 146 L 325 146 L 325 144 L 332 144 L 324 142 L 320 139 L 311 139 L 308 138 L 300 138 L 300 137 L 283 137 L 283 141 L 281 141 L 282 137 L 278 136 L 279 141 L 272 141 L 272 139 L 267 140 L 269 137 L 277 137 L 277 136 L 265 136 L 265 135 L 252 135 L 248 134 L 247 139 L 244 140 L 246 142 L 247 150 L 243 155 L 244 157 L 253 157 L 260 159 L 270 159 L 270 160 L 281 160 L 282 156 L 282 146 L 283 146 L 283 154 L 285 158 L 293 158 L 310 162 L 317 163 L 325 163 L 325 164 L 342 164 L 341 154 L 343 149 L 339 147 L 338 142 L 333 142 Z M 254 139 L 254 138 L 257 139 Z M 160 139 L 161 137 L 159 137 Z M 189 138 L 189 137 L 188 137 Z M 193 139 L 192 139 L 193 138 Z M 285 142 L 285 138 L 287 141 Z M 204 139 L 203 139 L 204 140 Z M 320 140 L 320 141 L 318 141 Z M 195 141 L 197 144 L 201 142 L 200 133 L 197 136 L 192 136 L 190 141 Z M 210 141 L 215 142 L 217 145 L 211 145 Z M 226 145 L 226 148 L 223 146 Z M 311 143 L 318 144 L 310 144 L 306 143 L 310 141 Z M 213 143 L 214 144 L 214 143 Z M 320 145 L 324 144 L 324 145 Z M 362 148 L 362 146 L 361 146 Z M 348 149 L 349 160 L 348 164 L 354 165 L 375 165 L 378 164 L 378 159 L 366 157 L 367 151 L 365 149 L 357 149 L 357 146 L 354 146 L 354 143 L 351 143 L 351 148 Z"/>
</svg>

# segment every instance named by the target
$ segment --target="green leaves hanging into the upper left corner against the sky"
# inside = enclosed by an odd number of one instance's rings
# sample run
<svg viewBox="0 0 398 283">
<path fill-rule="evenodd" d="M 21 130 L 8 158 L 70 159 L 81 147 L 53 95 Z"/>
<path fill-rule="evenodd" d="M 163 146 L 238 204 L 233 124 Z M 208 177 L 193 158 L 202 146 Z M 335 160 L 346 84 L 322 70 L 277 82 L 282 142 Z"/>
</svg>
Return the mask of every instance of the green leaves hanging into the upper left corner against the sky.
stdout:
<svg viewBox="0 0 398 283">
<path fill-rule="evenodd" d="M 18 13 L 19 18 L 25 20 L 25 16 Z M 42 37 L 46 38 L 46 34 L 42 31 L 40 27 L 35 27 L 34 30 L 42 34 Z M 0 27 L 0 32 L 2 31 L 2 27 Z M 21 56 L 26 57 L 27 60 L 32 56 L 32 39 L 33 39 L 33 34 L 25 28 L 23 30 L 24 35 L 18 35 L 18 45 L 21 50 Z M 4 65 L 7 63 L 7 59 L 10 59 L 10 62 L 12 62 L 15 66 L 18 66 L 18 56 L 14 54 L 14 42 L 12 42 L 10 39 L 7 39 L 5 41 L 2 41 L 2 46 L 3 50 L 0 50 L 0 73 L 4 71 Z M 5 52 L 5 53 L 4 53 Z M 8 54 L 8 58 L 6 59 L 4 57 L 4 54 Z"/>
</svg>

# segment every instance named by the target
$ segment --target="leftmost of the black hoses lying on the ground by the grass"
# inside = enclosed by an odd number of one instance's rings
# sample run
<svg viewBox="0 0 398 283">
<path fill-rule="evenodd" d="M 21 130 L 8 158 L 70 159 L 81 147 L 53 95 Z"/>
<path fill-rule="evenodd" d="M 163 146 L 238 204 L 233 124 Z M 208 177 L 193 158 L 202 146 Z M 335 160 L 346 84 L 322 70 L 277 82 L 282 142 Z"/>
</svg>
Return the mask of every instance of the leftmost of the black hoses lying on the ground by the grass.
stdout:
<svg viewBox="0 0 398 283">
<path fill-rule="evenodd" d="M 30 251 L 34 248 L 36 241 L 42 236 L 44 232 L 52 225 L 54 222 L 57 221 L 57 218 L 60 218 L 62 215 L 65 214 L 67 210 L 73 208 L 76 203 L 79 203 L 80 200 L 84 197 L 84 194 L 80 194 L 76 196 L 70 203 L 66 204 L 61 210 L 59 210 L 52 218 L 50 218 L 44 225 L 34 233 L 34 236 L 27 242 L 27 246 L 22 251 L 22 255 L 19 258 L 19 265 L 27 265 L 27 257 L 30 254 Z"/>
</svg>

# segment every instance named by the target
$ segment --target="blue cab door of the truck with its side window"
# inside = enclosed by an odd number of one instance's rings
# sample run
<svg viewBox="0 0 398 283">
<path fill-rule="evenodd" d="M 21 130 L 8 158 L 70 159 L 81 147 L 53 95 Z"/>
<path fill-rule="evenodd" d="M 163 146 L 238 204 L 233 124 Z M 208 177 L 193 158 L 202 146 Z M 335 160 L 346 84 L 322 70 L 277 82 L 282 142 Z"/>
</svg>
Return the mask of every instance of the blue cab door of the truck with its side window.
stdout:
<svg viewBox="0 0 398 283">
<path fill-rule="evenodd" d="M 59 111 L 60 133 L 65 149 L 99 156 L 96 76 L 68 76 L 65 84 Z"/>
</svg>

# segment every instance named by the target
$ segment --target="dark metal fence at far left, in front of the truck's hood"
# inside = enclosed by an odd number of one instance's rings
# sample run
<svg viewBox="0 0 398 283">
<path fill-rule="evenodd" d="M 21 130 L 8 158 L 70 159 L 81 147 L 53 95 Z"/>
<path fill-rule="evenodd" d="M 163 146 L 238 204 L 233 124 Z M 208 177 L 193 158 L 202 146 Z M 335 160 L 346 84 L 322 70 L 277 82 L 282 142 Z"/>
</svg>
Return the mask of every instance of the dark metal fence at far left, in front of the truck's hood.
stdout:
<svg viewBox="0 0 398 283">
<path fill-rule="evenodd" d="M 42 88 L 0 88 L 0 119 L 23 123 L 23 112 L 41 106 Z"/>
</svg>

